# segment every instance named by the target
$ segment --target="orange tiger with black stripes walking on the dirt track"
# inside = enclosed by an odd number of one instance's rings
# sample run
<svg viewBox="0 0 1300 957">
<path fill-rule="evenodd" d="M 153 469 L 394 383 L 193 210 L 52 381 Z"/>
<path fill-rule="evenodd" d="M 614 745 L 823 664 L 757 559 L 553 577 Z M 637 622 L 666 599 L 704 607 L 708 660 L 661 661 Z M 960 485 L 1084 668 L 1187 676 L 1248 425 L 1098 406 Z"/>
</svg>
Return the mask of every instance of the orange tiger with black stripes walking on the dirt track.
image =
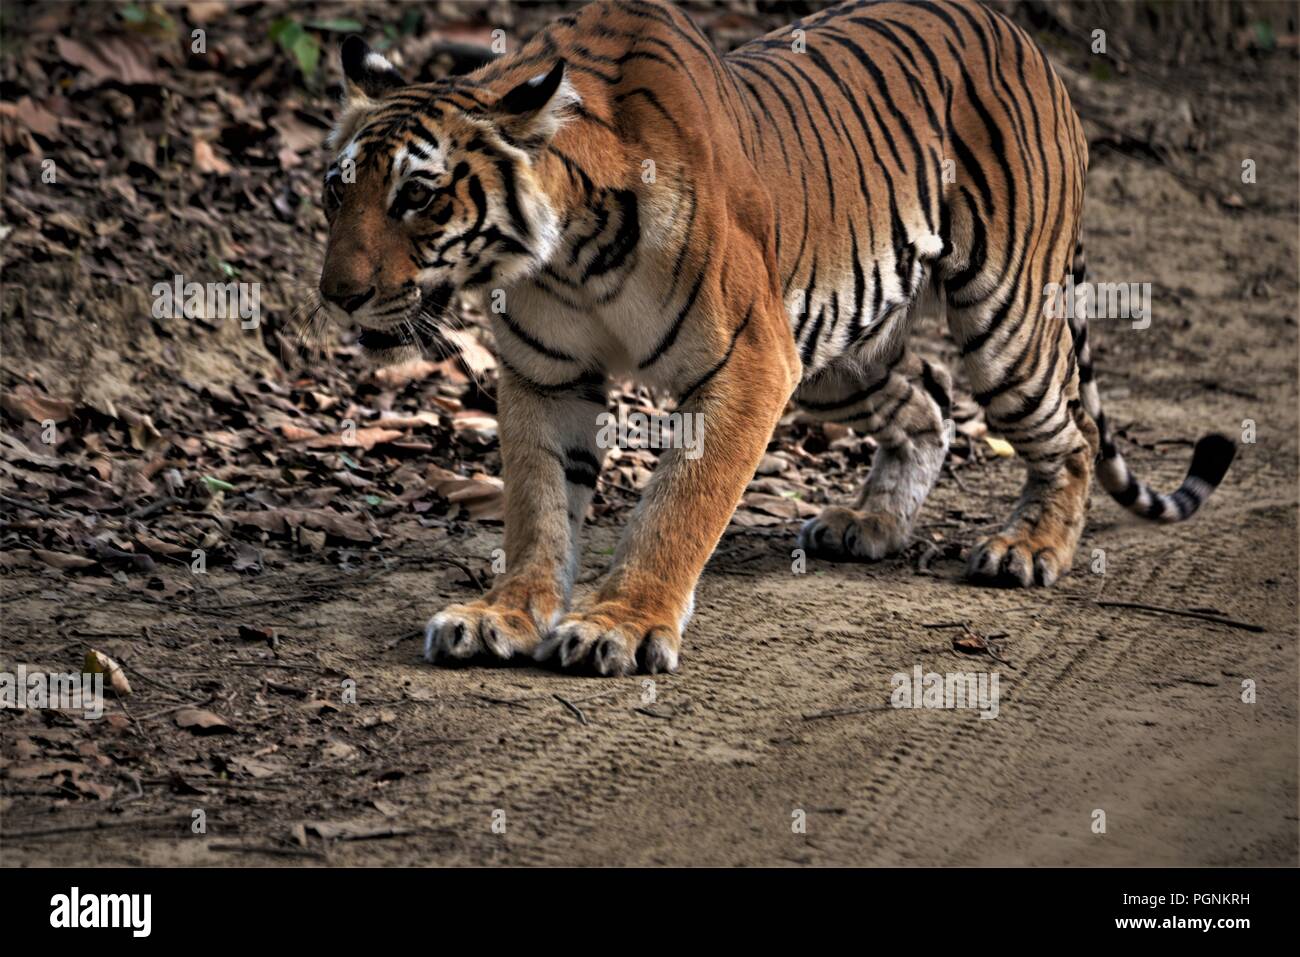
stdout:
<svg viewBox="0 0 1300 957">
<path fill-rule="evenodd" d="M 946 321 L 988 428 L 1027 477 L 967 576 L 1052 585 L 1093 473 L 1124 508 L 1187 519 L 1235 443 L 1201 438 L 1173 494 L 1128 469 L 1080 311 L 1088 146 L 1056 70 L 975 3 L 852 0 L 719 55 L 658 0 L 601 0 L 512 52 L 407 83 L 341 49 L 320 296 L 377 359 L 446 337 L 456 295 L 493 333 L 506 568 L 438 611 L 424 657 L 679 668 L 696 585 L 793 400 L 875 439 L 809 557 L 909 542 L 952 441 L 953 378 L 910 330 Z M 486 307 L 491 302 L 491 308 Z M 608 570 L 573 598 L 611 380 L 699 413 L 663 451 Z"/>
</svg>

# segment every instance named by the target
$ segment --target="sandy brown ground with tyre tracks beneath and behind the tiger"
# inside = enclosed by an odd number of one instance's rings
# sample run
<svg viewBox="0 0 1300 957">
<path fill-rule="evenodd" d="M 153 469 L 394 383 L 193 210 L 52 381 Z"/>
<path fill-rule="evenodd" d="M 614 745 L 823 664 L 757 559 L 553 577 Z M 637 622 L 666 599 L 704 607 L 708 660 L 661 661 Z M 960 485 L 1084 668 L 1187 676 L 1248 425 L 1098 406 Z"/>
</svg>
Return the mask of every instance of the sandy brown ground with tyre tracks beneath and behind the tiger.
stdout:
<svg viewBox="0 0 1300 957">
<path fill-rule="evenodd" d="M 1217 117 L 1197 182 L 1257 191 L 1226 208 L 1106 151 L 1089 177 L 1093 277 L 1154 283 L 1149 329 L 1112 322 L 1093 338 L 1130 464 L 1173 488 L 1190 455 L 1179 439 L 1256 425 L 1202 515 L 1143 525 L 1095 490 L 1074 573 L 1032 592 L 970 586 L 956 559 L 930 575 L 914 559 L 797 575 L 793 524 L 733 528 L 701 581 L 681 674 L 653 681 L 419 659 L 424 619 L 476 590 L 428 558 L 486 559 L 499 527 L 430 533 L 426 549 L 351 576 L 308 559 L 256 579 L 214 571 L 202 612 L 10 575 L 6 659 L 53 666 L 79 640 L 117 636 L 155 677 L 135 680 L 131 716 L 113 724 L 8 713 L 10 744 L 46 735 L 108 755 L 108 771 L 142 752 L 169 770 L 136 775 L 135 801 L 55 807 L 10 776 L 4 863 L 1295 865 L 1295 64 L 1268 96 L 1192 74 L 1182 92 L 1167 78 L 1101 91 L 1066 75 L 1086 99 L 1149 116 L 1191 98 Z M 1247 156 L 1253 186 L 1236 174 Z M 1020 471 L 992 459 L 961 475 L 966 488 L 945 475 L 920 523 L 970 545 L 1005 516 Z M 826 499 L 850 486 L 829 476 Z M 592 531 L 589 573 L 619 524 Z M 244 622 L 278 629 L 269 664 L 235 637 Z M 1002 661 L 926 627 L 952 622 L 1004 633 Z M 893 675 L 915 666 L 996 672 L 996 719 L 890 707 Z M 338 703 L 346 679 L 355 705 Z M 237 733 L 178 729 L 176 687 L 214 701 Z M 204 833 L 188 823 L 196 809 Z"/>
</svg>

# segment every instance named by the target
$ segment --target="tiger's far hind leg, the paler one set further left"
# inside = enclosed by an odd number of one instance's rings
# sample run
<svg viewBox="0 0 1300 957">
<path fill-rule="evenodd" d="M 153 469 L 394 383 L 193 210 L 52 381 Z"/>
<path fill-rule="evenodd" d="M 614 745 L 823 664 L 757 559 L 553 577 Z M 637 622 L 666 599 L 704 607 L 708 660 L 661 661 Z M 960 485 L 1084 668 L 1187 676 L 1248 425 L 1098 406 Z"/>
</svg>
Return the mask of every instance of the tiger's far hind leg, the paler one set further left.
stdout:
<svg viewBox="0 0 1300 957">
<path fill-rule="evenodd" d="M 800 547 L 835 559 L 878 560 L 906 547 L 913 521 L 948 454 L 948 371 L 902 350 L 892 364 L 848 367 L 802 387 L 814 417 L 876 439 L 871 471 L 853 507 L 829 506 L 800 532 Z"/>
</svg>

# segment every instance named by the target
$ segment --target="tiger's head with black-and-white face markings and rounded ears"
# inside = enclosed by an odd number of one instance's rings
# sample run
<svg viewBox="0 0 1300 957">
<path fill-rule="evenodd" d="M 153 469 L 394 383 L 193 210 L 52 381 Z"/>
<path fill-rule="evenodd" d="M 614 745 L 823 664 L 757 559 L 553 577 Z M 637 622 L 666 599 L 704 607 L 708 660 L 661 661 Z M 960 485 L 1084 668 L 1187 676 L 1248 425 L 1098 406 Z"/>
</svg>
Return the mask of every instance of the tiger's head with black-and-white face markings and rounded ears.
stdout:
<svg viewBox="0 0 1300 957">
<path fill-rule="evenodd" d="M 534 164 L 578 96 L 563 60 L 506 92 L 473 77 L 407 85 L 358 36 L 342 60 L 320 294 L 368 352 L 396 358 L 438 338 L 456 291 L 550 257 L 558 217 Z"/>
</svg>

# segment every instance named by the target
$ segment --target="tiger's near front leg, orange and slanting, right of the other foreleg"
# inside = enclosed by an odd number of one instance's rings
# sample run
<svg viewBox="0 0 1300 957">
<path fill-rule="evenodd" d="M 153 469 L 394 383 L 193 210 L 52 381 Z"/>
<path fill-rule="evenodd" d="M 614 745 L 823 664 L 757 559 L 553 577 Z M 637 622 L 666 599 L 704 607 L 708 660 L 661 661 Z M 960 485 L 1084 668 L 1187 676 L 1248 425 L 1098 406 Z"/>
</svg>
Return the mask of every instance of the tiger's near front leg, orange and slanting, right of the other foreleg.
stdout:
<svg viewBox="0 0 1300 957">
<path fill-rule="evenodd" d="M 566 668 L 625 675 L 676 671 L 681 632 L 694 609 L 696 581 L 731 521 L 745 485 L 798 380 L 784 313 L 736 315 L 729 354 L 689 391 L 680 412 L 702 413 L 698 458 L 682 449 L 660 455 L 633 512 L 614 566 L 597 592 L 538 645 Z"/>
</svg>

